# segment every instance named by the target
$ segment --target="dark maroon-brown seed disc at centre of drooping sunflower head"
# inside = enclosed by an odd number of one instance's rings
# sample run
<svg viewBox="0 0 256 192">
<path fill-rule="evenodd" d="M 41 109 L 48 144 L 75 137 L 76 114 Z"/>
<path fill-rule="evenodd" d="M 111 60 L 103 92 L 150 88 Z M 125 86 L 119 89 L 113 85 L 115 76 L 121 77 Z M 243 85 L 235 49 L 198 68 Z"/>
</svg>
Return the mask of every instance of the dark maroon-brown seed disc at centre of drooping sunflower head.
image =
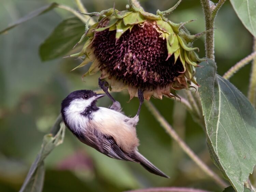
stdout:
<svg viewBox="0 0 256 192">
<path fill-rule="evenodd" d="M 165 87 L 183 72 L 179 58 L 169 57 L 166 39 L 149 21 L 134 25 L 116 41 L 116 31 L 95 32 L 92 48 L 100 61 L 100 70 L 111 78 L 141 88 Z"/>
</svg>

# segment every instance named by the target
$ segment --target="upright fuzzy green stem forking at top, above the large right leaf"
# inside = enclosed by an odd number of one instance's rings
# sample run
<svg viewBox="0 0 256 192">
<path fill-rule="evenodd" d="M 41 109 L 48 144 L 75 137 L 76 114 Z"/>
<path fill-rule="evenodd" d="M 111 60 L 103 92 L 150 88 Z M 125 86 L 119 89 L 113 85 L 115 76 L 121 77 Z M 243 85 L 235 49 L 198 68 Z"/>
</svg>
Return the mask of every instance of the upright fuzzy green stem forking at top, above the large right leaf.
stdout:
<svg viewBox="0 0 256 192">
<path fill-rule="evenodd" d="M 205 18 L 205 29 L 209 30 L 205 36 L 205 54 L 206 57 L 214 61 L 214 20 L 217 12 L 224 4 L 225 0 L 219 0 L 215 6 L 210 0 L 201 0 Z"/>
</svg>

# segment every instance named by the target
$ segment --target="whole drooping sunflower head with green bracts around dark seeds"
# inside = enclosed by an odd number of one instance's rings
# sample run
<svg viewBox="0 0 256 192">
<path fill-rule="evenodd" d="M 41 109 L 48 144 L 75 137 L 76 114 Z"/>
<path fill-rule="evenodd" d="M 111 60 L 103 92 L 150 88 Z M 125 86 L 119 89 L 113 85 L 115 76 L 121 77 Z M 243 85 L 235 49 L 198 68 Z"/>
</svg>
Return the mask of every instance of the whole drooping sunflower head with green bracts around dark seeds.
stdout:
<svg viewBox="0 0 256 192">
<path fill-rule="evenodd" d="M 128 90 L 130 98 L 144 90 L 144 98 L 175 97 L 175 90 L 197 85 L 195 67 L 202 60 L 192 47 L 203 33 L 190 35 L 186 23 L 175 24 L 162 12 L 144 12 L 132 4 L 126 11 L 104 10 L 92 25 L 80 53 L 72 56 L 84 60 L 78 67 L 93 62 L 83 75 L 100 71 L 112 91 Z M 76 69 L 75 68 L 75 69 Z"/>
</svg>

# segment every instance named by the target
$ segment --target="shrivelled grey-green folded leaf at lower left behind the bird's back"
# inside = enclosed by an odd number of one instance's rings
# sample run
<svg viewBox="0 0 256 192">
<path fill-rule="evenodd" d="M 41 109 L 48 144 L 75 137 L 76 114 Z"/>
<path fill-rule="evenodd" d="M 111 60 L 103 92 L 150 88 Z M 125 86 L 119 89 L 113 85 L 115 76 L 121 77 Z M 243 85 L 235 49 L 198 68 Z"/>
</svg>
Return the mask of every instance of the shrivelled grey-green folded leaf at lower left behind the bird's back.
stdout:
<svg viewBox="0 0 256 192">
<path fill-rule="evenodd" d="M 65 135 L 65 124 L 61 122 L 61 116 L 58 117 L 54 128 L 59 128 L 58 132 L 55 136 L 53 134 L 47 134 L 43 138 L 43 144 L 37 158 L 34 163 L 31 165 L 27 177 L 20 189 L 20 192 L 24 191 L 33 191 L 40 192 L 43 188 L 43 180 L 44 180 L 44 159 L 48 156 L 48 154 L 58 145 L 63 142 Z"/>
</svg>

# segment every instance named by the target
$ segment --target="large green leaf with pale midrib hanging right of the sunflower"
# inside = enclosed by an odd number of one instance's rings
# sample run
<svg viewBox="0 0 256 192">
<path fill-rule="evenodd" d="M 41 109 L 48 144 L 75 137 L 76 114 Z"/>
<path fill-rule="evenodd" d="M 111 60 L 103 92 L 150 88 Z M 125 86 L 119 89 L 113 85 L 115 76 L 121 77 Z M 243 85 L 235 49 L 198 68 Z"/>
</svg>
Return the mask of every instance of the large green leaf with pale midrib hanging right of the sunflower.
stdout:
<svg viewBox="0 0 256 192">
<path fill-rule="evenodd" d="M 211 156 L 237 191 L 243 191 L 256 164 L 256 112 L 247 98 L 216 74 L 216 64 L 204 61 L 197 68 Z"/>
</svg>

